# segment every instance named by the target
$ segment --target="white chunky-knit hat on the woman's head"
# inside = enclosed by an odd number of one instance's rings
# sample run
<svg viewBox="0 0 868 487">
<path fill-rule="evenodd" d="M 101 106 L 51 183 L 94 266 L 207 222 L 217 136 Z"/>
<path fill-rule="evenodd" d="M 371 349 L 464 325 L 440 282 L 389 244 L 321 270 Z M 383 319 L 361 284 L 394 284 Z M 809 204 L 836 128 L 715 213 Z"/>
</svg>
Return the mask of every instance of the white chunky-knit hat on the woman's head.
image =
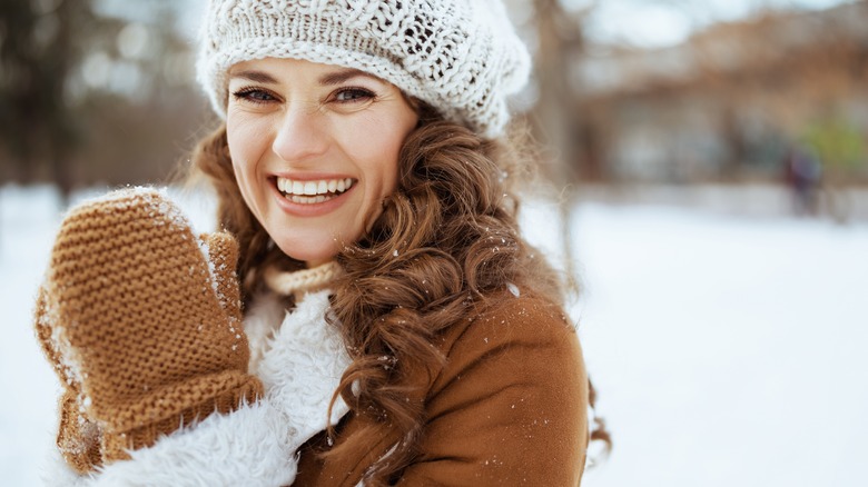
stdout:
<svg viewBox="0 0 868 487">
<path fill-rule="evenodd" d="M 294 58 L 377 76 L 496 137 L 530 74 L 501 0 L 210 0 L 201 37 L 197 77 L 221 117 L 233 64 Z"/>
</svg>

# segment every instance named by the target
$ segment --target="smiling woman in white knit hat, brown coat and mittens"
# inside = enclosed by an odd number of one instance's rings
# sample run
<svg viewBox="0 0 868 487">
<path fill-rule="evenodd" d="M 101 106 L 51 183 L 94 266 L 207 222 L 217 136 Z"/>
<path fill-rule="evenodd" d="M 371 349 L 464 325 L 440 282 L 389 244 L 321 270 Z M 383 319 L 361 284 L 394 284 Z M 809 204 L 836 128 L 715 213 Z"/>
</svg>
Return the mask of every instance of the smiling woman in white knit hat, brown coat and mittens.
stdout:
<svg viewBox="0 0 868 487">
<path fill-rule="evenodd" d="M 576 485 L 581 349 L 504 189 L 527 64 L 496 0 L 213 1 L 195 165 L 233 237 L 152 190 L 69 213 L 56 480 Z"/>
</svg>

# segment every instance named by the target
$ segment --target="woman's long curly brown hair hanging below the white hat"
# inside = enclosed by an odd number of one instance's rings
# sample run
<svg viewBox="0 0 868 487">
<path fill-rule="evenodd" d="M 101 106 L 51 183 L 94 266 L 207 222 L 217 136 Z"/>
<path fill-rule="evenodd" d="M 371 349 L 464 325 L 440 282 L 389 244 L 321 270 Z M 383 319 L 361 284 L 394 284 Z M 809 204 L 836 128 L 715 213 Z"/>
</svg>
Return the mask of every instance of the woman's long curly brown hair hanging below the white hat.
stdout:
<svg viewBox="0 0 868 487">
<path fill-rule="evenodd" d="M 499 299 L 510 284 L 563 302 L 559 276 L 519 232 L 513 183 L 526 179 L 522 151 L 444 121 L 421 105 L 420 123 L 398 158 L 398 187 L 357 242 L 337 256 L 345 274 L 334 284 L 333 317 L 352 358 L 341 395 L 372 421 L 329 450 L 342 456 L 396 428 L 403 440 L 367 473 L 368 485 L 388 484 L 418 454 L 424 404 L 414 397 L 411 370 L 444 362 L 434 338 L 465 318 L 474 304 Z M 226 128 L 198 146 L 194 167 L 217 191 L 218 221 L 240 246 L 245 302 L 263 287 L 269 266 L 298 269 L 241 199 L 231 168 Z M 329 411 L 331 413 L 331 411 Z M 609 444 L 598 424 L 592 438 Z M 329 429 L 328 435 L 334 435 Z"/>
</svg>

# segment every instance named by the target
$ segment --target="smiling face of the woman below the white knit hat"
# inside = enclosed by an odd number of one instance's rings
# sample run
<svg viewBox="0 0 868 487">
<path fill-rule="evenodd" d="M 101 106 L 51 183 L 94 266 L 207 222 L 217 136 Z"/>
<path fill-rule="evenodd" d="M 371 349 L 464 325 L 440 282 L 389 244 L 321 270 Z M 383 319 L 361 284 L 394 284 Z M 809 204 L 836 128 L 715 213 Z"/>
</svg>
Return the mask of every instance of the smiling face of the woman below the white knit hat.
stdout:
<svg viewBox="0 0 868 487">
<path fill-rule="evenodd" d="M 394 85 L 358 70 L 272 58 L 229 69 L 226 130 L 241 196 L 308 267 L 379 216 L 416 121 Z"/>
</svg>

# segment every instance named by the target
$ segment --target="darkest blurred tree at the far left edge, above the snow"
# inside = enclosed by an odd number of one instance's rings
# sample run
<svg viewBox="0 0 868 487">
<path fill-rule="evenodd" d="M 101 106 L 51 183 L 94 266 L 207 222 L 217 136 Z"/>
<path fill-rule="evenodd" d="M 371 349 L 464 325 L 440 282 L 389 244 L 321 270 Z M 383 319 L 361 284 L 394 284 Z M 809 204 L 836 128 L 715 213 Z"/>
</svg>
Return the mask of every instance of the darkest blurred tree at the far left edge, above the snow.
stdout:
<svg viewBox="0 0 868 487">
<path fill-rule="evenodd" d="M 78 141 L 65 87 L 81 57 L 73 26 L 92 23 L 85 2 L 0 3 L 0 142 L 11 177 L 24 182 L 50 171 L 69 191 L 69 153 Z"/>
</svg>

